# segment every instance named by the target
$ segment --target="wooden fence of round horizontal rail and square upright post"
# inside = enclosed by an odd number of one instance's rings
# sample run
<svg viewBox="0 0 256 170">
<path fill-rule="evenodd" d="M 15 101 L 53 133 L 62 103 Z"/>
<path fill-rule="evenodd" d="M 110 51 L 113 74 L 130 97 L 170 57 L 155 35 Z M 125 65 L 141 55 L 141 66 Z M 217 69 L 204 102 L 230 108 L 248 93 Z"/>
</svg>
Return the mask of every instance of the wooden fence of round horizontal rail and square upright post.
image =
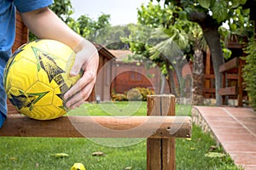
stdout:
<svg viewBox="0 0 256 170">
<path fill-rule="evenodd" d="M 62 116 L 37 121 L 9 115 L 0 136 L 147 138 L 147 169 L 175 169 L 175 138 L 190 138 L 189 116 L 175 116 L 173 95 L 148 96 L 148 116 Z"/>
</svg>

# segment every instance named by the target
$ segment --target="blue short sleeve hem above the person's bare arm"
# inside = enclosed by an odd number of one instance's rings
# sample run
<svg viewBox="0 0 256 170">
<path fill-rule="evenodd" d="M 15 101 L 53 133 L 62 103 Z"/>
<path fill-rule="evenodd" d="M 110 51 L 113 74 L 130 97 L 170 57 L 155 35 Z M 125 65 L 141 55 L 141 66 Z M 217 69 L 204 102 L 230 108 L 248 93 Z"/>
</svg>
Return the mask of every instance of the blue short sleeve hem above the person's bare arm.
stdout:
<svg viewBox="0 0 256 170">
<path fill-rule="evenodd" d="M 15 0 L 15 7 L 20 13 L 26 13 L 38 8 L 44 8 L 53 3 L 53 0 Z"/>
</svg>

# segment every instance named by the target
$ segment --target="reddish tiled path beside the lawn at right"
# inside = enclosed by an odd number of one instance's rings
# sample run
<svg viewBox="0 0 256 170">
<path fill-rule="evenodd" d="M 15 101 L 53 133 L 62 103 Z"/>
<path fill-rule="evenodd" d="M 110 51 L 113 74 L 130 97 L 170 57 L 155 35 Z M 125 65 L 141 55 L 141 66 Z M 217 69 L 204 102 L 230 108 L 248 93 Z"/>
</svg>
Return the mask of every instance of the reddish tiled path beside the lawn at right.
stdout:
<svg viewBox="0 0 256 170">
<path fill-rule="evenodd" d="M 236 165 L 256 170 L 256 112 L 248 108 L 194 106 Z M 193 115 L 193 113 L 192 113 Z"/>
</svg>

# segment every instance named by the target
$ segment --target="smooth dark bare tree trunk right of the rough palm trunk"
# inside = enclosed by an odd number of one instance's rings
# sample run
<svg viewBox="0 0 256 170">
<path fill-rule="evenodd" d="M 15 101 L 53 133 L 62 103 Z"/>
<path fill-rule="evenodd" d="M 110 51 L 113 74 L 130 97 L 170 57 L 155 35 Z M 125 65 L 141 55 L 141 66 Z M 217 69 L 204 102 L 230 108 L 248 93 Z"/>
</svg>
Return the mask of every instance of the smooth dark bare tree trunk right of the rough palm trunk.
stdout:
<svg viewBox="0 0 256 170">
<path fill-rule="evenodd" d="M 222 85 L 222 74 L 220 74 L 218 69 L 220 65 L 224 64 L 224 56 L 220 44 L 218 26 L 204 26 L 202 27 L 202 30 L 212 55 L 213 71 L 215 75 L 216 105 L 221 105 L 222 98 L 218 94 L 218 89 L 221 88 Z"/>
</svg>

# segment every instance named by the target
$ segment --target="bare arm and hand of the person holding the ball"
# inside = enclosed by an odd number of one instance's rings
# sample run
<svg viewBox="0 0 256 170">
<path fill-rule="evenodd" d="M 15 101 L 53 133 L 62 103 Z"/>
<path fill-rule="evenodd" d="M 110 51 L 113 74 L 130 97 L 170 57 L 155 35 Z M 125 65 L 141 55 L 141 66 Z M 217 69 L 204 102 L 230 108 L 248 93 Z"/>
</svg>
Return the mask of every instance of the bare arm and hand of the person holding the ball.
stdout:
<svg viewBox="0 0 256 170">
<path fill-rule="evenodd" d="M 70 75 L 76 76 L 80 69 L 84 70 L 84 75 L 67 91 L 64 98 L 68 99 L 66 105 L 69 108 L 81 105 L 89 97 L 96 82 L 99 60 L 96 47 L 72 31 L 49 8 L 40 8 L 20 15 L 29 30 L 39 38 L 54 39 L 73 48 L 76 58 Z"/>
</svg>

